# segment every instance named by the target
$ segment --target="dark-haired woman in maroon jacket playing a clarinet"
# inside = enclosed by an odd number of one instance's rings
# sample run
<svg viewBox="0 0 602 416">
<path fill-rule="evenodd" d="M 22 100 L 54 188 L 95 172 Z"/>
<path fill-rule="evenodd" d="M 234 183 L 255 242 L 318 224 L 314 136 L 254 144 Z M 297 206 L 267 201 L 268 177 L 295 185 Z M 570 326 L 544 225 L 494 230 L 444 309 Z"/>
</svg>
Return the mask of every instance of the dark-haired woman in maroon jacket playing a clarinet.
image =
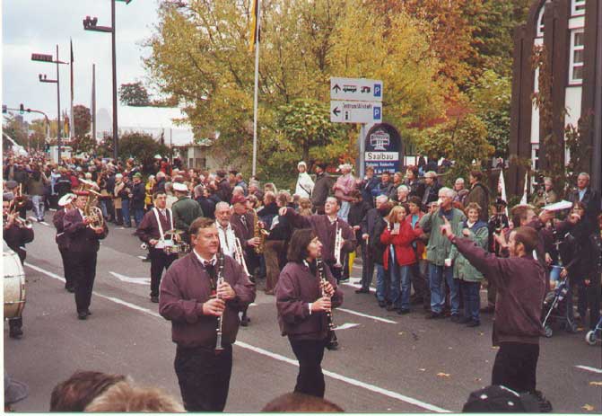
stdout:
<svg viewBox="0 0 602 416">
<path fill-rule="evenodd" d="M 321 363 L 328 341 L 327 313 L 343 304 L 343 292 L 336 287 L 330 270 L 322 268 L 327 282 L 318 276 L 321 254 L 322 243 L 310 228 L 296 230 L 289 244 L 289 262 L 275 291 L 280 329 L 299 361 L 294 391 L 317 397 L 324 397 L 325 390 Z"/>
</svg>

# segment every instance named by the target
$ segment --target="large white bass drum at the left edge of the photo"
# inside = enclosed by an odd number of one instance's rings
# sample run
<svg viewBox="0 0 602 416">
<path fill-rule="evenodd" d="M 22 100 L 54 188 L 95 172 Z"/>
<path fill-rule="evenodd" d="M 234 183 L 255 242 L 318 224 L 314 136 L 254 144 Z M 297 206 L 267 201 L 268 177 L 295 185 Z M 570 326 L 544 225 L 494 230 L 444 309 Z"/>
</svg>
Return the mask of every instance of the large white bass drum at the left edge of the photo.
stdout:
<svg viewBox="0 0 602 416">
<path fill-rule="evenodd" d="M 25 307 L 25 272 L 17 253 L 4 249 L 4 319 L 17 318 Z"/>
</svg>

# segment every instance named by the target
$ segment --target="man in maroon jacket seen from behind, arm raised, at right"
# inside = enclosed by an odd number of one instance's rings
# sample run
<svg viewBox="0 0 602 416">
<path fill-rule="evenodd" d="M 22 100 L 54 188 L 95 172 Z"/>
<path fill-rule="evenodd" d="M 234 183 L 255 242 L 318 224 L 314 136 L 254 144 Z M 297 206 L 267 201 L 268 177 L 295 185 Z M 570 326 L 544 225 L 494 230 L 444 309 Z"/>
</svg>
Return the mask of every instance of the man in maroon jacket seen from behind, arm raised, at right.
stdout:
<svg viewBox="0 0 602 416">
<path fill-rule="evenodd" d="M 508 242 L 509 258 L 495 257 L 471 240 L 457 237 L 447 218 L 441 233 L 497 287 L 493 345 L 500 350 L 493 363 L 492 385 L 504 385 L 517 393 L 537 394 L 544 403 L 545 399 L 536 393 L 540 317 L 545 295 L 545 270 L 533 258 L 539 243 L 537 231 L 529 226 L 513 229 Z M 546 404 L 551 411 L 549 402 Z"/>
</svg>

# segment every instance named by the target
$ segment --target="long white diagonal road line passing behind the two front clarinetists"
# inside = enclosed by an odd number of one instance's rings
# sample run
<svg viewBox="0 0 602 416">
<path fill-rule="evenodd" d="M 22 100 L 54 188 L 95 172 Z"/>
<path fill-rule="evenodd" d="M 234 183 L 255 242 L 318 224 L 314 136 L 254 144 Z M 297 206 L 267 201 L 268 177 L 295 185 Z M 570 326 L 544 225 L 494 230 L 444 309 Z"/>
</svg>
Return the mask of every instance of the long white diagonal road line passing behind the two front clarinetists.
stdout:
<svg viewBox="0 0 602 416">
<path fill-rule="evenodd" d="M 57 280 L 60 280 L 62 282 L 65 282 L 65 279 L 61 278 L 60 276 L 58 276 L 57 274 L 55 274 L 55 273 L 53 273 L 51 271 L 41 269 L 38 266 L 34 266 L 32 264 L 25 264 L 25 266 L 27 266 L 27 267 L 29 267 L 29 268 L 31 268 L 33 270 L 37 270 L 40 273 L 43 273 L 43 274 L 45 274 L 45 275 L 47 275 L 47 276 L 49 276 L 49 277 L 51 277 L 53 279 L 57 279 Z M 154 317 L 157 317 L 157 318 L 161 318 L 160 314 L 157 314 L 156 312 L 154 312 L 154 311 L 152 311 L 150 309 L 147 309 L 145 307 L 138 306 L 138 305 L 135 305 L 135 304 L 131 304 L 131 303 L 126 302 L 125 300 L 121 300 L 121 299 L 119 299 L 117 297 L 108 297 L 108 296 L 105 296 L 105 295 L 101 295 L 98 292 L 92 292 L 92 293 L 94 295 L 98 296 L 98 297 L 102 297 L 102 298 L 107 299 L 107 300 L 109 300 L 111 302 L 114 302 L 114 303 L 116 303 L 118 305 L 124 305 L 126 307 L 129 307 L 130 309 L 135 309 L 136 311 L 143 312 L 144 314 L 149 314 L 151 316 L 154 316 Z M 255 346 L 250 345 L 250 344 L 248 344 L 246 342 L 236 341 L 236 343 L 234 345 L 236 345 L 236 346 L 238 346 L 240 348 L 243 348 L 245 350 L 251 350 L 251 351 L 257 352 L 257 354 L 261 354 L 261 355 L 264 355 L 266 357 L 274 358 L 274 359 L 276 359 L 278 361 L 282 361 L 282 362 L 285 362 L 287 364 L 291 364 L 292 366 L 299 367 L 299 363 L 295 359 L 284 357 L 283 355 L 276 354 L 275 352 L 255 347 Z M 422 401 L 420 401 L 418 399 L 414 399 L 413 397 L 409 397 L 409 396 L 406 396 L 404 394 L 398 394 L 397 392 L 392 392 L 390 390 L 387 390 L 387 389 L 384 389 L 382 387 L 379 387 L 378 385 L 371 385 L 369 383 L 364 383 L 364 382 L 362 382 L 360 380 L 356 380 L 356 379 L 354 379 L 352 377 L 342 376 L 340 374 L 337 374 L 337 373 L 334 373 L 334 372 L 328 371 L 328 370 L 323 370 L 323 373 L 326 376 L 329 376 L 329 377 L 334 378 L 336 380 L 339 380 L 339 381 L 342 381 L 344 383 L 347 383 L 348 385 L 355 385 L 355 386 L 361 387 L 361 388 L 363 388 L 365 390 L 369 390 L 369 391 L 374 392 L 374 393 L 382 394 L 382 395 L 385 395 L 387 397 L 399 400 L 401 402 L 413 404 L 416 407 L 420 407 L 420 408 L 422 408 L 424 410 L 427 410 L 427 411 L 430 411 L 430 412 L 451 413 L 451 411 L 448 411 L 446 409 L 442 409 L 441 407 L 435 406 L 435 405 L 430 404 L 430 403 L 422 402 Z"/>
</svg>

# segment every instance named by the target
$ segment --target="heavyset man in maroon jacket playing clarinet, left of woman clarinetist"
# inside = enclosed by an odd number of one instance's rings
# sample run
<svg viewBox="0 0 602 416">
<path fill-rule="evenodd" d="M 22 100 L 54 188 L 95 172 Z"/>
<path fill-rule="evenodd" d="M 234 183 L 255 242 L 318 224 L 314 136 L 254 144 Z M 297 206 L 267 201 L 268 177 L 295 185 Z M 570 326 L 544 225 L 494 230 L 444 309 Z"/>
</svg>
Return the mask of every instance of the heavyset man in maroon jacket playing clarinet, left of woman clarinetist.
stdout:
<svg viewBox="0 0 602 416">
<path fill-rule="evenodd" d="M 239 312 L 253 302 L 255 288 L 240 264 L 219 252 L 214 220 L 196 218 L 189 234 L 192 252 L 174 261 L 161 280 L 159 313 L 171 321 L 171 339 L 178 345 L 174 366 L 184 407 L 222 412 Z M 216 349 L 219 319 L 222 350 Z"/>
</svg>

